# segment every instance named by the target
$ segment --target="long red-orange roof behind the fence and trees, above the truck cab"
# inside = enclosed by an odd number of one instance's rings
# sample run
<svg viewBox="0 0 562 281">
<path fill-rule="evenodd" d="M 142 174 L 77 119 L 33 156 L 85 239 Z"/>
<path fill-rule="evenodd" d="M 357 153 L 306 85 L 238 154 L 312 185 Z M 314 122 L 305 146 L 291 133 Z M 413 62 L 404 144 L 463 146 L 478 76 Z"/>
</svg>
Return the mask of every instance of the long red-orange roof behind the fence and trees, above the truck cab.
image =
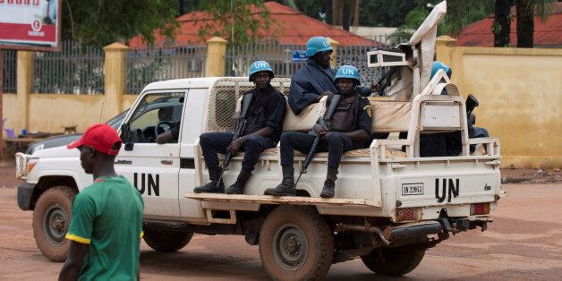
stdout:
<svg viewBox="0 0 562 281">
<path fill-rule="evenodd" d="M 266 2 L 266 9 L 269 12 L 269 18 L 274 22 L 269 30 L 260 30 L 260 37 L 275 37 L 280 44 L 305 45 L 306 41 L 313 36 L 325 36 L 335 39 L 340 46 L 373 46 L 378 43 L 368 38 L 362 38 L 351 32 L 341 30 L 326 22 L 318 21 L 294 9 L 278 4 L 277 2 Z M 252 8 L 252 15 L 256 16 L 261 11 Z M 208 13 L 195 11 L 186 13 L 176 18 L 180 27 L 175 34 L 175 42 L 179 44 L 189 43 L 192 45 L 205 45 L 205 41 L 213 37 L 218 30 L 223 33 L 221 37 L 227 38 L 229 30 L 222 30 L 218 22 L 213 22 Z M 199 31 L 206 25 L 212 28 L 209 30 L 209 36 L 201 40 Z M 166 38 L 159 35 L 155 31 L 155 44 L 159 45 L 166 41 Z M 132 48 L 144 47 L 145 43 L 141 37 L 132 38 L 129 41 Z"/>
</svg>

